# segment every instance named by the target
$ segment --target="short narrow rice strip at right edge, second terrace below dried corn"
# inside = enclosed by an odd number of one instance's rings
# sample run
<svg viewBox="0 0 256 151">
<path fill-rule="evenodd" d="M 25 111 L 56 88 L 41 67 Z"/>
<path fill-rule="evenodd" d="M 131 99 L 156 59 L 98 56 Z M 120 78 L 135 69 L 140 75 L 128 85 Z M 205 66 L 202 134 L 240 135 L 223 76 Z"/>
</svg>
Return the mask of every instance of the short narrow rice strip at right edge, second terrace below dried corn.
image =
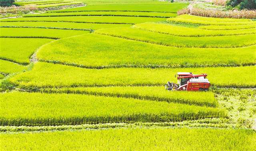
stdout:
<svg viewBox="0 0 256 151">
<path fill-rule="evenodd" d="M 239 30 L 239 29 L 254 29 L 256 30 L 256 25 L 210 25 L 210 26 L 199 26 L 200 29 L 206 30 Z"/>
</svg>

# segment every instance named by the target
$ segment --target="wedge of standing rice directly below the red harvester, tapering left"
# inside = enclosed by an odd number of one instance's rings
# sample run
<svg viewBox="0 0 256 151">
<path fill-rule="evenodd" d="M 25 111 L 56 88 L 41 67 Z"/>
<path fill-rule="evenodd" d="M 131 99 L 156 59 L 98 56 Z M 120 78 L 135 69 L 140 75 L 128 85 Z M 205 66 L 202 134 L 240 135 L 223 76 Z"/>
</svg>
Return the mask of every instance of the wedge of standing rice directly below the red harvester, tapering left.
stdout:
<svg viewBox="0 0 256 151">
<path fill-rule="evenodd" d="M 75 93 L 96 96 L 126 97 L 152 101 L 166 101 L 188 105 L 217 107 L 214 93 L 165 91 L 163 86 L 153 87 L 76 87 L 62 89 L 40 89 L 44 93 Z"/>
</svg>

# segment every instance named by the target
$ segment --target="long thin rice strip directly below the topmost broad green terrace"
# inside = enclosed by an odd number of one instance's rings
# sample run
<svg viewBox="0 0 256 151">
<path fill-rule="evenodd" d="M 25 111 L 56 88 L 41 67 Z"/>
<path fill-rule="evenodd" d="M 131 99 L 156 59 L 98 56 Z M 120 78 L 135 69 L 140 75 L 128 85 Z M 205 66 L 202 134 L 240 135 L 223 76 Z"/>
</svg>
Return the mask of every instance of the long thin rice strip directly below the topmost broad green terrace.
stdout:
<svg viewBox="0 0 256 151">
<path fill-rule="evenodd" d="M 62 12 L 62 13 L 42 13 L 42 14 L 23 15 L 23 17 L 54 17 L 54 16 L 135 16 L 135 17 L 170 18 L 177 15 L 175 13 L 163 13 L 163 12 L 118 12 L 118 11 Z"/>
</svg>

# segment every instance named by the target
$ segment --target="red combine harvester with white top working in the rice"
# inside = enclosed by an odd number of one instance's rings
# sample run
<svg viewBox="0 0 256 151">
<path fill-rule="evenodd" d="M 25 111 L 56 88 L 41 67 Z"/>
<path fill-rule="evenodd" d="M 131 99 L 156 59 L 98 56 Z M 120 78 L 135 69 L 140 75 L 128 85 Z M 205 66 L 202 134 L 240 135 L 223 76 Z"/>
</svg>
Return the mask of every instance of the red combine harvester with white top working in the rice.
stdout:
<svg viewBox="0 0 256 151">
<path fill-rule="evenodd" d="M 178 84 L 170 83 L 165 85 L 165 89 L 172 91 L 208 91 L 211 86 L 206 79 L 207 74 L 192 74 L 192 72 L 178 72 Z"/>
</svg>

